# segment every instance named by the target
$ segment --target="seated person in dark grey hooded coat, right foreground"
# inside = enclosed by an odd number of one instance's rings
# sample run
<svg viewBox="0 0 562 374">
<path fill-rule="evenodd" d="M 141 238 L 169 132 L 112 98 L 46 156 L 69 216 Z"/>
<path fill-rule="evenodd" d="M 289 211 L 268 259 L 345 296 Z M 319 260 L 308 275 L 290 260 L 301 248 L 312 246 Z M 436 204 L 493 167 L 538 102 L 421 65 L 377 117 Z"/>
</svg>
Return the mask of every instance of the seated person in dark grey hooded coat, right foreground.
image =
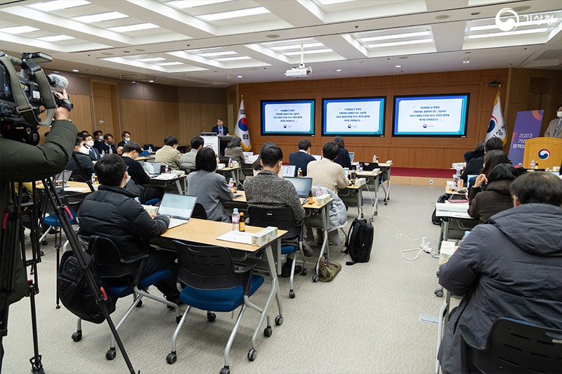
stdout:
<svg viewBox="0 0 562 374">
<path fill-rule="evenodd" d="M 509 190 L 514 207 L 473 228 L 439 267 L 440 285 L 464 295 L 439 347 L 445 374 L 462 371 L 459 325 L 482 347 L 500 317 L 562 329 L 562 179 L 530 172 Z"/>
</svg>

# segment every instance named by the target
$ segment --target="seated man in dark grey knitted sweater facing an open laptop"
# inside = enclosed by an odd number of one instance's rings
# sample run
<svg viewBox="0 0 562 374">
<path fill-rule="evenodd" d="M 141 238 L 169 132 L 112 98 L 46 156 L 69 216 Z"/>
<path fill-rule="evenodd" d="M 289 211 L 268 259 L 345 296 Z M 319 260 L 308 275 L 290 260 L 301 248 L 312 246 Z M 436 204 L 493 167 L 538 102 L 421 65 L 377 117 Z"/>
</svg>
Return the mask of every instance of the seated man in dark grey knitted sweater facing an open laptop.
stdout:
<svg viewBox="0 0 562 374">
<path fill-rule="evenodd" d="M 287 179 L 280 178 L 278 175 L 283 166 L 283 151 L 277 146 L 266 147 L 264 145 L 261 148 L 260 163 L 263 168 L 261 172 L 253 178 L 247 179 L 246 183 L 244 183 L 248 205 L 290 207 L 293 211 L 295 223 L 300 224 L 305 216 L 301 199 L 296 193 L 293 183 L 287 181 Z M 282 240 L 282 242 L 296 244 L 296 238 L 288 238 Z M 308 257 L 313 255 L 311 248 L 306 245 L 306 238 L 303 238 L 303 253 Z M 287 262 L 282 267 L 281 276 L 291 276 L 293 259 L 294 253 L 287 254 Z M 295 266 L 295 274 L 299 274 L 301 271 L 302 266 Z"/>
</svg>

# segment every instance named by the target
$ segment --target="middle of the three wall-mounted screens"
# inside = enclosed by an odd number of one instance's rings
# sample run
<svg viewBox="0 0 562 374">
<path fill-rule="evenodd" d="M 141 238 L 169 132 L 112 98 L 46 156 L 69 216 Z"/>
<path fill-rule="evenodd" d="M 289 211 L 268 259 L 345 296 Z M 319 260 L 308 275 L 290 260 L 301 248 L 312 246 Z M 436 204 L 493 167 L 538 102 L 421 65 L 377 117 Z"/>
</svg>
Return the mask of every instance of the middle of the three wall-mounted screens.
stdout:
<svg viewBox="0 0 562 374">
<path fill-rule="evenodd" d="M 322 99 L 322 135 L 384 136 L 385 98 Z"/>
</svg>

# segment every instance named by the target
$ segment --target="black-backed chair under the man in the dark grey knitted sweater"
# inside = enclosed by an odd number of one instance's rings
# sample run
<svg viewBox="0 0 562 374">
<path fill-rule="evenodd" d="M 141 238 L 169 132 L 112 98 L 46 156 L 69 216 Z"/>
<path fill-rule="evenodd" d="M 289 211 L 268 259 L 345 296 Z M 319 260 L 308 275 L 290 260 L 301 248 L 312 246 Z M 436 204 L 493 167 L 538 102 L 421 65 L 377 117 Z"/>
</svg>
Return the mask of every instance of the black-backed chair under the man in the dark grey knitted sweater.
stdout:
<svg viewBox="0 0 562 374">
<path fill-rule="evenodd" d="M 250 217 L 252 226 L 267 227 L 274 226 L 281 230 L 287 230 L 287 233 L 281 239 L 299 238 L 299 245 L 281 245 L 281 254 L 290 254 L 299 250 L 303 259 L 303 269 L 301 275 L 306 276 L 306 259 L 303 253 L 303 224 L 297 225 L 293 218 L 293 209 L 290 207 L 256 207 L 248 206 L 248 217 Z M 293 260 L 291 266 L 291 278 L 289 278 L 289 297 L 295 297 L 294 293 L 294 267 L 296 259 Z"/>
</svg>

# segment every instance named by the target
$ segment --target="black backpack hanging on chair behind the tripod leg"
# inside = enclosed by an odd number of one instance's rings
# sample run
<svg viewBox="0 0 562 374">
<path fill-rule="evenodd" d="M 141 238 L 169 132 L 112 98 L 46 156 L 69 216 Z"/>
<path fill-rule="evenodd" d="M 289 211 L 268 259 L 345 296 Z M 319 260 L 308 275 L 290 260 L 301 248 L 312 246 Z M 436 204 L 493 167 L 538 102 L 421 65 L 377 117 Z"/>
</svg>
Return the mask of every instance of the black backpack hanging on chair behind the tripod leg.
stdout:
<svg viewBox="0 0 562 374">
<path fill-rule="evenodd" d="M 86 261 L 86 267 L 91 270 L 98 288 L 101 289 L 101 279 L 93 267 L 91 257 L 86 252 L 82 253 Z M 63 258 L 60 259 L 57 278 L 60 284 L 60 302 L 63 303 L 66 309 L 84 321 L 93 323 L 103 323 L 105 321 L 105 316 L 96 300 L 97 295 L 90 289 L 88 280 L 80 267 L 78 259 L 74 256 L 74 252 L 66 251 L 63 253 Z M 105 298 L 105 292 L 102 291 L 102 293 Z M 108 295 L 105 305 L 109 314 L 115 311 L 115 301 Z"/>
</svg>

